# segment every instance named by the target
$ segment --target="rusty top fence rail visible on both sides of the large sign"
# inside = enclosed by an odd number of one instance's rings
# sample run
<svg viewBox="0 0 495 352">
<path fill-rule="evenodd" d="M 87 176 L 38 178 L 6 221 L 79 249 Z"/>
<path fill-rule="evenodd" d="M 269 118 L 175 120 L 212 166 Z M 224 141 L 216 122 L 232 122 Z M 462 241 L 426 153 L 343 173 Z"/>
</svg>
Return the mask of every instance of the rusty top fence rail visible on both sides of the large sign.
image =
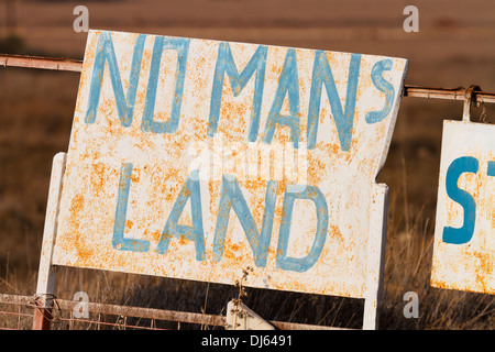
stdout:
<svg viewBox="0 0 495 352">
<path fill-rule="evenodd" d="M 78 73 L 82 70 L 82 62 L 74 58 L 8 54 L 0 54 L 0 66 L 69 70 Z M 405 85 L 404 97 L 464 100 L 465 88 L 433 88 Z M 495 92 L 474 90 L 472 101 L 495 103 Z"/>
</svg>

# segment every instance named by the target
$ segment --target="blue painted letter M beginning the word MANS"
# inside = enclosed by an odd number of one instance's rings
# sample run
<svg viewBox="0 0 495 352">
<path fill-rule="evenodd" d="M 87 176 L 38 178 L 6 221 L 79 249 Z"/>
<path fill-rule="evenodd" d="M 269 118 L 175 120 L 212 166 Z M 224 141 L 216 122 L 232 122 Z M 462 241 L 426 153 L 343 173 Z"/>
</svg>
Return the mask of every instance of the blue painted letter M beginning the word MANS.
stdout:
<svg viewBox="0 0 495 352">
<path fill-rule="evenodd" d="M 220 116 L 220 106 L 222 101 L 223 79 L 226 74 L 229 76 L 230 85 L 234 97 L 239 96 L 251 77 L 256 73 L 254 80 L 253 107 L 250 118 L 249 141 L 254 142 L 260 129 L 260 112 L 263 99 L 263 87 L 265 81 L 266 55 L 268 48 L 260 45 L 251 57 L 248 65 L 239 74 L 232 56 L 229 43 L 221 42 L 218 47 L 217 65 L 215 67 L 213 88 L 211 90 L 210 117 L 208 125 L 208 136 L 215 136 Z"/>
</svg>

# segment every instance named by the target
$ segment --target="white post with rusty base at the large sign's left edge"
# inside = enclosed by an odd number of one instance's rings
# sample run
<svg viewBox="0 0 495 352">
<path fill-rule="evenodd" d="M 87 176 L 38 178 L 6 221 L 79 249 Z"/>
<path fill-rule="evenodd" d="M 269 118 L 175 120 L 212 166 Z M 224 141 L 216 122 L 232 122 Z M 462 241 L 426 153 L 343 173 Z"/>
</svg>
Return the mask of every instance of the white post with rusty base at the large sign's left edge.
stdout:
<svg viewBox="0 0 495 352">
<path fill-rule="evenodd" d="M 54 300 L 55 272 L 52 254 L 57 231 L 57 216 L 65 172 L 66 153 L 58 153 L 53 158 L 50 180 L 48 202 L 46 206 L 45 228 L 37 273 L 36 309 L 34 310 L 33 330 L 50 330 Z"/>
</svg>

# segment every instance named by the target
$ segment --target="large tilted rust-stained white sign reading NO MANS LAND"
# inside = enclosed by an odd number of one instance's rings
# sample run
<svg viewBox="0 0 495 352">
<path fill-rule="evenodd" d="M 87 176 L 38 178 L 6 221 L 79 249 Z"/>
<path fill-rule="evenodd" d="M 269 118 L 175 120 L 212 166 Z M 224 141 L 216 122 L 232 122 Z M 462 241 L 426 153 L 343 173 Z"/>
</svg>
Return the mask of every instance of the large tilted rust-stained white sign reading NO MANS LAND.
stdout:
<svg viewBox="0 0 495 352">
<path fill-rule="evenodd" d="M 363 297 L 406 67 L 90 31 L 53 263 Z"/>
</svg>

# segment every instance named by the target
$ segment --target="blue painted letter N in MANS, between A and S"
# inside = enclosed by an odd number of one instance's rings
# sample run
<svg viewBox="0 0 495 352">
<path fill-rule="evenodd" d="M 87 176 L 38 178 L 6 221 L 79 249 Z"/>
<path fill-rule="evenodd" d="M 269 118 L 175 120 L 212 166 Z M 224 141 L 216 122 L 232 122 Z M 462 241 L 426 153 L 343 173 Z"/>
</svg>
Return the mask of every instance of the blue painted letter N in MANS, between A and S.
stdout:
<svg viewBox="0 0 495 352">
<path fill-rule="evenodd" d="M 327 90 L 328 100 L 336 121 L 339 134 L 340 147 L 343 152 L 351 148 L 352 127 L 354 124 L 355 100 L 358 95 L 358 81 L 360 77 L 361 55 L 352 54 L 349 65 L 348 90 L 345 95 L 345 111 L 342 109 L 336 80 L 328 64 L 327 54 L 322 51 L 315 53 L 312 67 L 311 91 L 309 98 L 307 143 L 308 148 L 315 148 L 318 136 L 320 119 L 322 85 Z"/>
</svg>

